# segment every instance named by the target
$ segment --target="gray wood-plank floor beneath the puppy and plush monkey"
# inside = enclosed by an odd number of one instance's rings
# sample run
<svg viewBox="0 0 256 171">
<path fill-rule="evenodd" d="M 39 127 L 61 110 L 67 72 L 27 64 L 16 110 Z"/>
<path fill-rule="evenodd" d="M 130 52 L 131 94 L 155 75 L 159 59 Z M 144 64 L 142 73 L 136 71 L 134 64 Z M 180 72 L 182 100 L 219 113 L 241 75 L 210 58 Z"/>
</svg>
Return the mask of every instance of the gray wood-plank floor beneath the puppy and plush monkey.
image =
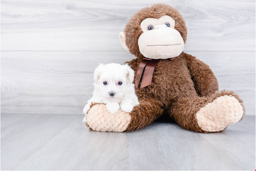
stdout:
<svg viewBox="0 0 256 171">
<path fill-rule="evenodd" d="M 255 116 L 221 133 L 156 121 L 89 131 L 83 115 L 1 114 L 1 170 L 254 170 Z"/>
</svg>

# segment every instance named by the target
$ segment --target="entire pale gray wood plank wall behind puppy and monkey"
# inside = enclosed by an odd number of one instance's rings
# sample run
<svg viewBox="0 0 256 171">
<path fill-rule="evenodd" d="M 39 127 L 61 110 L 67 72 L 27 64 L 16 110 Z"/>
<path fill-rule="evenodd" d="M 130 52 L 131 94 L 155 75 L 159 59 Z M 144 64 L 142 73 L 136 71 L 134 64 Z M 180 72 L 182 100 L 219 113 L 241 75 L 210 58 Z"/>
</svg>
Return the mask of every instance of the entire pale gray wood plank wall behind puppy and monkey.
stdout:
<svg viewBox="0 0 256 171">
<path fill-rule="evenodd" d="M 185 52 L 255 115 L 254 0 L 1 0 L 1 113 L 81 114 L 94 68 L 134 58 L 118 39 L 128 19 L 159 2 L 183 15 Z"/>
</svg>

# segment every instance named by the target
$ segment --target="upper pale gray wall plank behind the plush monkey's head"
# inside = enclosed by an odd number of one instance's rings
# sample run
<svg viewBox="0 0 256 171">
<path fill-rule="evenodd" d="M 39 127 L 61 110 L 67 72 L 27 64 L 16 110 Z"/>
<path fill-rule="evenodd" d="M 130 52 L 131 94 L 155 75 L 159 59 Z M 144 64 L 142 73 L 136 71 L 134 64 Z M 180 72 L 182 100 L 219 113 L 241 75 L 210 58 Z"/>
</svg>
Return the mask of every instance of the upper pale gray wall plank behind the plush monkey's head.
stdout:
<svg viewBox="0 0 256 171">
<path fill-rule="evenodd" d="M 123 50 L 118 34 L 142 1 L 2 0 L 1 50 Z M 163 0 L 188 26 L 187 51 L 255 51 L 254 0 Z"/>
</svg>

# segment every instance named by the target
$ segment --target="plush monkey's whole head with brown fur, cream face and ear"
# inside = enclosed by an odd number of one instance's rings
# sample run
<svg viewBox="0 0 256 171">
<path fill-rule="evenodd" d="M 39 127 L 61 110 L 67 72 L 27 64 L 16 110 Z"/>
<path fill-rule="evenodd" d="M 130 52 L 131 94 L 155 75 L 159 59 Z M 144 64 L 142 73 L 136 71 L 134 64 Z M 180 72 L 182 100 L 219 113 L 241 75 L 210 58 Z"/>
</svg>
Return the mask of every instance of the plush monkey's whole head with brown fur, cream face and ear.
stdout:
<svg viewBox="0 0 256 171">
<path fill-rule="evenodd" d="M 184 50 L 187 27 L 177 10 L 155 4 L 137 12 L 126 24 L 119 39 L 123 47 L 138 58 L 167 59 Z"/>
</svg>

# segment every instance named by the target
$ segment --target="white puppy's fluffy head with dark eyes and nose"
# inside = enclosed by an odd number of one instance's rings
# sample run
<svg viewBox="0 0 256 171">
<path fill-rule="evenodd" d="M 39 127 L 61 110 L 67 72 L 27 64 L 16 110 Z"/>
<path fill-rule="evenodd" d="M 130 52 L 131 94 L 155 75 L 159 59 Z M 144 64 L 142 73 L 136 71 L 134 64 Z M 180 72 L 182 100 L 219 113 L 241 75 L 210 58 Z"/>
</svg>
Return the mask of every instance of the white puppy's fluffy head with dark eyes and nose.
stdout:
<svg viewBox="0 0 256 171">
<path fill-rule="evenodd" d="M 134 71 L 128 64 L 100 64 L 94 71 L 94 82 L 102 96 L 116 101 L 124 96 L 128 86 L 133 86 Z"/>
</svg>

